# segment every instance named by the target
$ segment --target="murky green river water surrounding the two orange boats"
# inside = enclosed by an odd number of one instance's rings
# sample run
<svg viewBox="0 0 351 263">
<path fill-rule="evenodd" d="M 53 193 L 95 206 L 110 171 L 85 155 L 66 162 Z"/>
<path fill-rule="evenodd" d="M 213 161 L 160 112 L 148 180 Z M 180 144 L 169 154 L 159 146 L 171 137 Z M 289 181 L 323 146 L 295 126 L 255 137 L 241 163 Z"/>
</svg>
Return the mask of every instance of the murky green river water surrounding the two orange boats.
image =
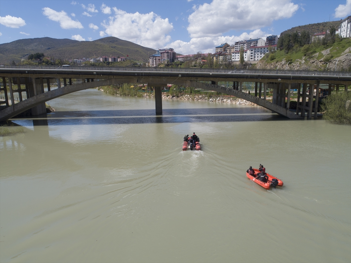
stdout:
<svg viewBox="0 0 351 263">
<path fill-rule="evenodd" d="M 0 138 L 1 262 L 351 261 L 350 126 L 95 89 L 50 106 Z M 250 181 L 260 163 L 284 186 Z"/>
</svg>

